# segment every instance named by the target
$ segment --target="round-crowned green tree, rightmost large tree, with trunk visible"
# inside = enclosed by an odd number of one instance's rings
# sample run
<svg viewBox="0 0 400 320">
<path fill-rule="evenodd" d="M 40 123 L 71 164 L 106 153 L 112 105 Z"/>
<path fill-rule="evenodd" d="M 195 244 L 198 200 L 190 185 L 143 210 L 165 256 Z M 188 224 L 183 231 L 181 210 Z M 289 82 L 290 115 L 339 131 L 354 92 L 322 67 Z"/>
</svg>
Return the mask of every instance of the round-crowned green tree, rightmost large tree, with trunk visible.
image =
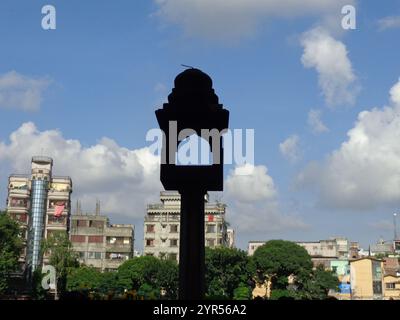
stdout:
<svg viewBox="0 0 400 320">
<path fill-rule="evenodd" d="M 269 278 L 272 290 L 286 290 L 288 277 L 295 276 L 295 281 L 307 278 L 312 273 L 311 257 L 307 251 L 291 241 L 271 240 L 259 247 L 253 255 L 254 268 Z"/>
</svg>

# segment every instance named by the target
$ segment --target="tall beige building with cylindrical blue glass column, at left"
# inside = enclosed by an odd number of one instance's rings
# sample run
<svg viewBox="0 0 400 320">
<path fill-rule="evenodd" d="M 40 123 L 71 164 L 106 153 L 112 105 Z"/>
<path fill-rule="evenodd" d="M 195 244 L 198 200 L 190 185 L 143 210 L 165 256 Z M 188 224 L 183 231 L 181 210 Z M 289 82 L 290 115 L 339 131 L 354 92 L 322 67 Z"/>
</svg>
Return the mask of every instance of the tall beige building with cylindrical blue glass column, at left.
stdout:
<svg viewBox="0 0 400 320">
<path fill-rule="evenodd" d="M 7 212 L 22 230 L 21 271 L 43 263 L 41 242 L 56 232 L 69 231 L 72 181 L 52 175 L 53 159 L 32 158 L 31 174 L 12 174 L 8 180 Z"/>
</svg>

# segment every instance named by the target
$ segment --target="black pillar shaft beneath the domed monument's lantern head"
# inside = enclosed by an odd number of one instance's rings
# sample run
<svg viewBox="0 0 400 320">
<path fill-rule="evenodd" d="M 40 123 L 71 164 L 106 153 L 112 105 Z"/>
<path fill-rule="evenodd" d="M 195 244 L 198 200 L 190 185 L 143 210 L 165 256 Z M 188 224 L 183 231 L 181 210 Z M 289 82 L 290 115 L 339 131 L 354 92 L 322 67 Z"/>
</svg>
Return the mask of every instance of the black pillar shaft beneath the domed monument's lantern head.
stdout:
<svg viewBox="0 0 400 320">
<path fill-rule="evenodd" d="M 199 300 L 205 292 L 205 192 L 189 189 L 180 193 L 179 299 Z"/>
</svg>

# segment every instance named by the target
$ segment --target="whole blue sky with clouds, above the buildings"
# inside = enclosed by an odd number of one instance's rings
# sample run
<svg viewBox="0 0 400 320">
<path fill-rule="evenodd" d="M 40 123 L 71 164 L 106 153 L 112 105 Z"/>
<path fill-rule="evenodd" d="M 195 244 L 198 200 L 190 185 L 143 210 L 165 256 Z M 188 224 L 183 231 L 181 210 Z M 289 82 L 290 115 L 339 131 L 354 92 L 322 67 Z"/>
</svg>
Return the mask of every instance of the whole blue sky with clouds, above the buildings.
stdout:
<svg viewBox="0 0 400 320">
<path fill-rule="evenodd" d="M 400 204 L 399 110 L 389 93 L 400 76 L 400 3 L 302 3 L 3 0 L 1 199 L 8 174 L 27 170 L 30 153 L 44 152 L 55 158 L 56 173 L 72 176 L 74 200 L 90 210 L 100 198 L 114 221 L 136 225 L 141 250 L 145 203 L 157 200 L 160 186 L 154 159 L 135 150 L 149 145 L 154 110 L 188 64 L 213 78 L 231 128 L 255 130 L 253 180 L 227 166 L 222 197 L 240 247 L 270 238 L 342 235 L 364 246 L 391 239 Z M 41 28 L 45 4 L 56 8 L 56 30 Z M 356 8 L 355 30 L 340 27 L 345 4 Z M 327 50 L 314 54 L 321 46 Z M 21 107 L 29 90 L 38 99 Z M 379 113 L 384 106 L 389 115 Z M 374 107 L 368 121 L 356 123 Z M 310 110 L 321 117 L 319 132 L 308 123 Z M 358 129 L 369 141 L 361 147 Z M 109 166 L 121 168 L 110 177 Z M 258 197 L 246 194 L 252 188 L 262 190 Z"/>
</svg>

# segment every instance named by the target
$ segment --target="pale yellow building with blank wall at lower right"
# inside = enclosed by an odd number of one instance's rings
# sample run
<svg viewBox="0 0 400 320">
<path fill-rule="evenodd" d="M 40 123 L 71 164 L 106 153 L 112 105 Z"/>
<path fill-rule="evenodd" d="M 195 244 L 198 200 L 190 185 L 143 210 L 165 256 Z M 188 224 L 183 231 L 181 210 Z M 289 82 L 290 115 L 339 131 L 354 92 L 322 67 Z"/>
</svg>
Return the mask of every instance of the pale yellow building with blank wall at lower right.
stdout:
<svg viewBox="0 0 400 320">
<path fill-rule="evenodd" d="M 350 261 L 351 296 L 355 300 L 380 300 L 385 295 L 383 261 L 364 257 Z"/>
</svg>

